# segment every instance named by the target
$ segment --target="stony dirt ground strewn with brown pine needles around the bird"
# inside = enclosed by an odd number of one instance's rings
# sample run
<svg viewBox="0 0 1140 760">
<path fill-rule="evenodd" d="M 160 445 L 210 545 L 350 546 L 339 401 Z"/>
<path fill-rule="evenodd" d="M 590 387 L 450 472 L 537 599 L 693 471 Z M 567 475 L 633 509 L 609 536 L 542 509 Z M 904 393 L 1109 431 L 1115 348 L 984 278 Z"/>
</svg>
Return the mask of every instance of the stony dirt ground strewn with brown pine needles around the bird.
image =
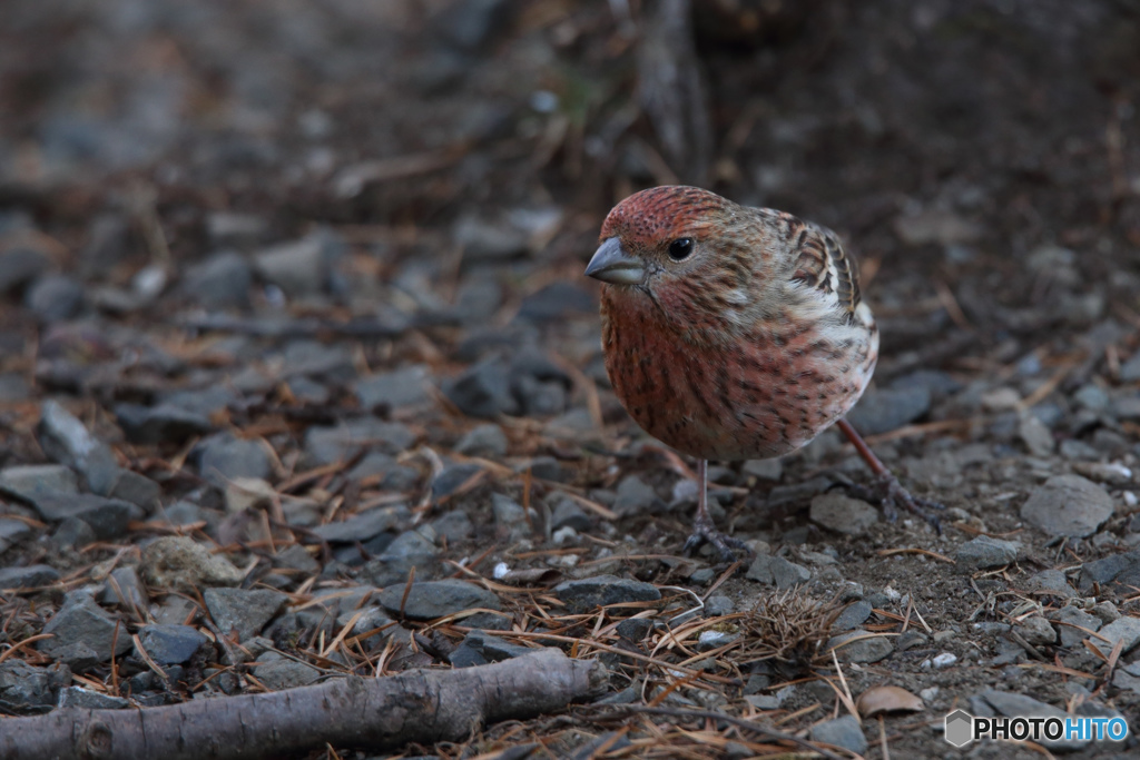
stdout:
<svg viewBox="0 0 1140 760">
<path fill-rule="evenodd" d="M 844 757 L 1134 757 L 1140 3 L 691 6 L 6 3 L 0 732 L 65 693 L 152 706 L 458 667 L 483 627 L 465 615 L 496 604 L 495 636 L 601 656 L 604 704 L 312 757 L 792 751 L 700 710 Z M 614 398 L 583 276 L 614 203 L 677 182 L 856 252 L 882 356 L 852 420 L 945 505 L 940 536 L 844 500 L 870 473 L 829 431 L 711 467 L 755 561 L 681 556 L 692 463 Z M 375 530 L 334 530 L 361 516 Z M 228 570 L 162 575 L 170 537 Z M 604 574 L 630 596 L 579 608 L 559 586 Z M 498 600 L 383 603 L 447 578 Z M 279 597 L 229 628 L 211 587 Z M 64 647 L 84 594 L 139 643 Z M 157 671 L 139 653 L 192 634 Z M 921 708 L 856 709 L 880 686 Z M 1132 735 L 943 738 L 1010 695 Z"/>
</svg>

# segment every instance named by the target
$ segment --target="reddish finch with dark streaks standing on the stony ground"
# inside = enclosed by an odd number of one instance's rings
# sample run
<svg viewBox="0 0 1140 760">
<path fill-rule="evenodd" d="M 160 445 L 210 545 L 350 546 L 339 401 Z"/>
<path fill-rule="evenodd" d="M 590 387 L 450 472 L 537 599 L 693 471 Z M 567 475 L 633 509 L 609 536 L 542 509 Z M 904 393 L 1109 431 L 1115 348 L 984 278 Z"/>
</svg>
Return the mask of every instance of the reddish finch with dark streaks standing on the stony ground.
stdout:
<svg viewBox="0 0 1140 760">
<path fill-rule="evenodd" d="M 585 275 L 602 283 L 610 384 L 645 432 L 697 459 L 687 554 L 748 550 L 709 514 L 710 459 L 780 457 L 831 425 L 874 475 L 857 496 L 940 532 L 942 505 L 911 496 L 845 419 L 874 374 L 879 329 L 838 235 L 677 185 L 621 201 L 598 243 Z"/>
</svg>

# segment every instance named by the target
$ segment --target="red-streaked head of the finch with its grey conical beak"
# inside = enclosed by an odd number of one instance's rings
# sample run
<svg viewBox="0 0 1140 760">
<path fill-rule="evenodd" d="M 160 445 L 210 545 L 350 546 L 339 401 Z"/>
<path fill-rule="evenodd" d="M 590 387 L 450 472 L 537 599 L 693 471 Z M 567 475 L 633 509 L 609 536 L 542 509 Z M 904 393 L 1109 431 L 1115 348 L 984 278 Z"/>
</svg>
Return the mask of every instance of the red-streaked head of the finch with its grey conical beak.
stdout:
<svg viewBox="0 0 1140 760">
<path fill-rule="evenodd" d="M 742 320 L 767 279 L 764 213 L 697 187 L 642 190 L 605 218 L 586 275 L 613 286 L 611 301 L 648 296 L 678 322 Z"/>
</svg>

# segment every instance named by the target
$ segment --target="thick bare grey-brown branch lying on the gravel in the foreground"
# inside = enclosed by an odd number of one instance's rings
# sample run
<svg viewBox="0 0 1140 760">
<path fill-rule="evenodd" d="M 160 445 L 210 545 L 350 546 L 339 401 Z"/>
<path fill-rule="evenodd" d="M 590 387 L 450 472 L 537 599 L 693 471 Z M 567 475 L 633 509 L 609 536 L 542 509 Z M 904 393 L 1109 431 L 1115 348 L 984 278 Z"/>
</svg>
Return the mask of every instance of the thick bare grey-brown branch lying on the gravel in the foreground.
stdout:
<svg viewBox="0 0 1140 760">
<path fill-rule="evenodd" d="M 326 743 L 370 751 L 462 741 L 483 724 L 598 694 L 605 669 L 554 648 L 459 670 L 358 676 L 317 686 L 141 710 L 66 708 L 0 720 L 0 760 L 294 757 Z"/>
</svg>

